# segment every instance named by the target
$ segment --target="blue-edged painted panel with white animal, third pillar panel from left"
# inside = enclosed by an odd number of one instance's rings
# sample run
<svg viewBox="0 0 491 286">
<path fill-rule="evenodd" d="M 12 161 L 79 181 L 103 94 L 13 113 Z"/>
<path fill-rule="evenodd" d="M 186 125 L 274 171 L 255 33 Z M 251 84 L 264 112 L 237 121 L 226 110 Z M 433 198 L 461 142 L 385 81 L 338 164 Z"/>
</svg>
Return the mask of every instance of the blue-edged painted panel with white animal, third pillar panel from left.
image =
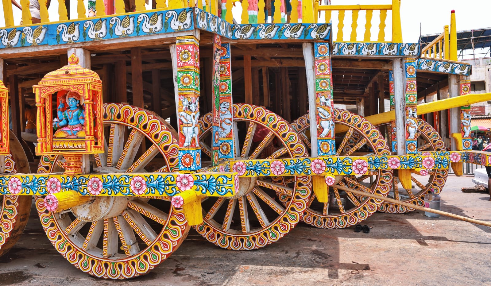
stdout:
<svg viewBox="0 0 491 286">
<path fill-rule="evenodd" d="M 232 117 L 232 78 L 230 44 L 221 44 L 219 101 L 219 159 L 234 159 L 234 129 Z"/>
</svg>

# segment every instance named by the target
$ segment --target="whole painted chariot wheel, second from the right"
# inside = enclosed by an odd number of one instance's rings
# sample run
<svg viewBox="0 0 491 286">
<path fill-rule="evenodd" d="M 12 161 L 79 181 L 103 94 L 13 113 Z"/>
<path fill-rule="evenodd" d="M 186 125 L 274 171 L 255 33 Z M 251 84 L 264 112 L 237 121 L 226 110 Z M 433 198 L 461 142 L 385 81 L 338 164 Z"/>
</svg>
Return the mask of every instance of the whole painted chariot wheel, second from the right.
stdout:
<svg viewBox="0 0 491 286">
<path fill-rule="evenodd" d="M 335 128 L 347 127 L 348 131 L 336 133 L 336 155 L 365 156 L 390 155 L 385 140 L 380 132 L 365 118 L 346 110 L 334 109 Z M 308 114 L 292 123 L 300 138 L 310 147 Z M 307 133 L 307 134 L 306 134 Z M 276 178 L 283 181 L 283 178 Z M 338 176 L 336 181 L 343 187 L 366 191 L 372 194 L 387 196 L 392 173 L 387 170 L 369 170 L 367 175 Z M 310 179 L 306 182 L 312 188 Z M 280 194 L 280 199 L 287 202 L 291 199 L 287 194 Z M 342 229 L 356 225 L 372 215 L 381 204 L 381 200 L 354 195 L 353 193 L 329 187 L 328 202 L 319 202 L 312 193 L 303 221 L 316 228 Z"/>
</svg>

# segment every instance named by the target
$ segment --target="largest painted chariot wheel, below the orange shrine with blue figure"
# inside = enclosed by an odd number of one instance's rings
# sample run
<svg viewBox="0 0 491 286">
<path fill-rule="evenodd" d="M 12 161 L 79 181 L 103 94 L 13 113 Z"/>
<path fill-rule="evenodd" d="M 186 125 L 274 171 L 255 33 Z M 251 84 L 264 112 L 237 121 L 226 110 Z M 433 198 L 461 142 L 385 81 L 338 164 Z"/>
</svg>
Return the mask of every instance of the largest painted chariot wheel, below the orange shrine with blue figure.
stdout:
<svg viewBox="0 0 491 286">
<path fill-rule="evenodd" d="M 164 119 L 123 104 L 104 105 L 106 153 L 93 156 L 94 172 L 170 172 L 178 169 L 177 134 Z M 141 145 L 145 144 L 145 151 Z M 38 172 L 62 172 L 62 156 L 43 156 Z M 189 226 L 168 197 L 96 197 L 53 213 L 36 198 L 41 224 L 56 250 L 90 275 L 127 279 L 163 262 Z"/>
</svg>

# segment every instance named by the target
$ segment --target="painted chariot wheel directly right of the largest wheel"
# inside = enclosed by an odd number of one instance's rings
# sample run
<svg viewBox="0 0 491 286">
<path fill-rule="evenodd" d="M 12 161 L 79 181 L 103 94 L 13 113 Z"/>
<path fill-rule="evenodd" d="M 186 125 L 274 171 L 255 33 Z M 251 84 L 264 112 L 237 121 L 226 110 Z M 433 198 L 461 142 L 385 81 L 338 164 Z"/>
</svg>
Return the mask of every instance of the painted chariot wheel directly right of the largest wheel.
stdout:
<svg viewBox="0 0 491 286">
<path fill-rule="evenodd" d="M 305 146 L 290 124 L 263 107 L 233 105 L 236 132 L 236 159 L 297 158 L 307 155 Z M 212 114 L 199 121 L 202 161 L 211 160 Z M 220 146 L 221 148 L 222 146 Z M 242 162 L 232 169 L 245 172 Z M 271 177 L 240 178 L 239 194 L 231 199 L 208 198 L 202 201 L 204 219 L 196 231 L 219 247 L 251 250 L 273 243 L 287 234 L 300 221 L 310 190 L 308 177 L 284 177 L 287 185 L 273 182 Z M 285 205 L 276 192 L 292 196 Z"/>
</svg>

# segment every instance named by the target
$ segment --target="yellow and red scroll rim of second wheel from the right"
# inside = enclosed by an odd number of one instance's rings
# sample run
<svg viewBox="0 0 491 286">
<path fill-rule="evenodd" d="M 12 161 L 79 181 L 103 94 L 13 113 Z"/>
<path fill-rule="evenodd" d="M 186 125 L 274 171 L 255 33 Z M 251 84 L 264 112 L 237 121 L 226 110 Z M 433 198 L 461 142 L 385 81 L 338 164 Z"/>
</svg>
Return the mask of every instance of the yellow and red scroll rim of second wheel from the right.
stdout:
<svg viewBox="0 0 491 286">
<path fill-rule="evenodd" d="M 356 129 L 356 133 L 359 135 L 360 139 L 365 138 L 370 145 L 373 145 L 373 149 L 376 155 L 390 155 L 390 151 L 387 147 L 385 139 L 382 137 L 380 132 L 365 118 L 357 114 L 353 114 L 349 111 L 343 111 L 334 109 L 333 113 L 334 122 L 343 122 L 343 124 L 352 126 Z M 308 122 L 306 120 L 295 121 L 294 124 L 298 130 L 305 130 L 308 128 Z M 388 170 L 376 170 L 375 182 L 371 187 L 371 192 L 386 196 L 390 189 L 390 184 L 392 182 L 392 173 Z M 355 188 L 353 180 L 355 176 L 347 176 L 347 185 L 349 188 Z M 303 177 L 302 177 L 303 178 Z M 308 189 L 312 188 L 311 177 L 306 177 L 306 180 L 302 184 L 307 185 Z M 331 190 L 332 191 L 332 190 Z M 337 195 L 339 196 L 339 195 Z M 290 196 L 286 194 L 279 194 L 278 198 L 285 202 Z M 341 200 L 337 199 L 338 202 Z M 324 215 L 322 212 L 313 210 L 307 207 L 303 213 L 302 220 L 314 227 L 324 228 L 324 229 L 343 229 L 357 223 L 366 220 L 375 211 L 377 211 L 382 200 L 367 199 L 363 201 L 359 206 L 351 209 L 345 214 L 327 214 Z M 333 207 L 333 206 L 330 206 Z"/>
</svg>

